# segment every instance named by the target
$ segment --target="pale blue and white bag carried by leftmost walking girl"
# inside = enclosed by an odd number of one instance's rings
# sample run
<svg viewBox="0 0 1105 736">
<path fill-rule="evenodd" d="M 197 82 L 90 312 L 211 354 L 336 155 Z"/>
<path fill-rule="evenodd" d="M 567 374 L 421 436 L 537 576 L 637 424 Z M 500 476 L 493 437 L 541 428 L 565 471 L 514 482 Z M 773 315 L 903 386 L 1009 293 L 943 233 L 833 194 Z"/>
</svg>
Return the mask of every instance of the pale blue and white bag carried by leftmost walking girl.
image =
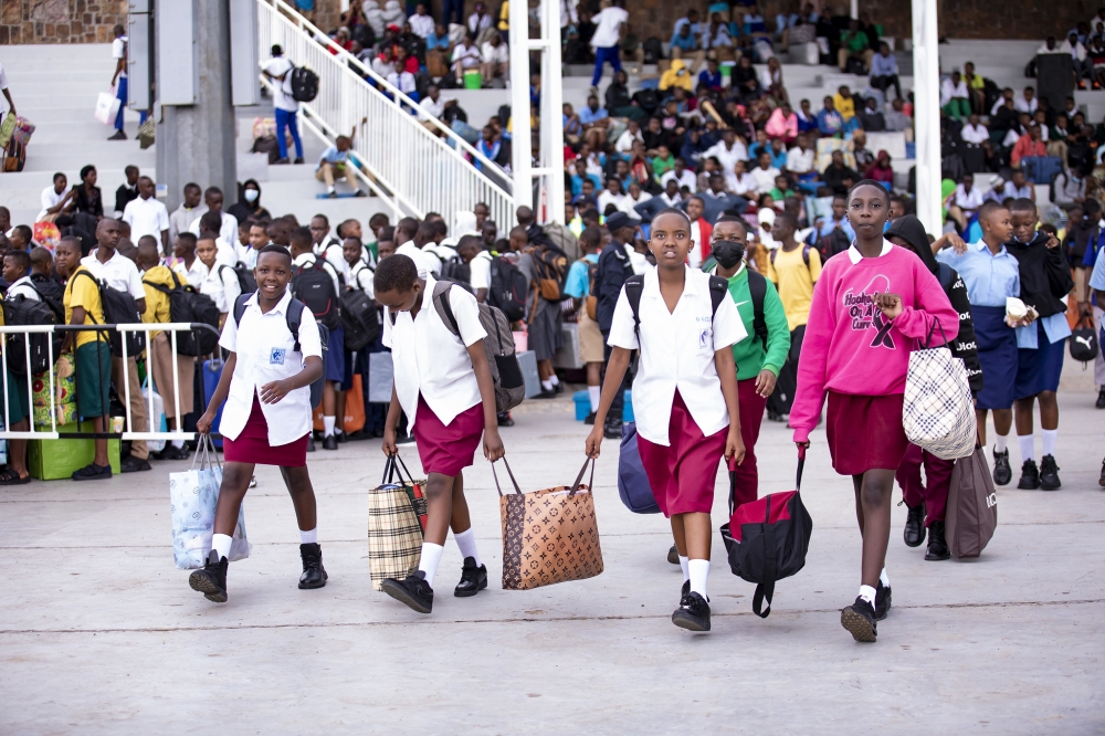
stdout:
<svg viewBox="0 0 1105 736">
<path fill-rule="evenodd" d="M 212 460 L 213 459 L 213 460 Z M 196 467 L 199 460 L 200 466 Z M 192 467 L 183 473 L 169 473 L 169 515 L 172 519 L 172 557 L 177 569 L 203 567 L 211 551 L 214 535 L 214 509 L 219 505 L 222 464 L 211 445 L 211 437 L 201 434 L 192 458 Z M 250 556 L 245 537 L 245 506 L 238 513 L 230 561 Z"/>
</svg>

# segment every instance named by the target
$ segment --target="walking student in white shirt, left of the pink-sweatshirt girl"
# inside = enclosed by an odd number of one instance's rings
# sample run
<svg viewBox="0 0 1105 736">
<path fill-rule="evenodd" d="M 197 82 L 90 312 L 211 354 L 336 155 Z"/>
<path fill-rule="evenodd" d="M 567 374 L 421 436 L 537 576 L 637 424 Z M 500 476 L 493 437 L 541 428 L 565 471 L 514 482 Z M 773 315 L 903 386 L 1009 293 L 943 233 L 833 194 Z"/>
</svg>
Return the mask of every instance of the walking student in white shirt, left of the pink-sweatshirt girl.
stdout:
<svg viewBox="0 0 1105 736">
<path fill-rule="evenodd" d="M 745 456 L 730 348 L 747 335 L 725 281 L 686 265 L 694 245 L 684 212 L 666 209 L 653 218 L 649 249 L 656 267 L 625 284 L 618 297 L 608 338 L 612 354 L 585 451 L 599 456 L 607 413 L 632 350 L 640 349 L 638 448 L 683 567 L 672 623 L 709 631 L 709 511 L 722 456 L 738 465 Z"/>
</svg>

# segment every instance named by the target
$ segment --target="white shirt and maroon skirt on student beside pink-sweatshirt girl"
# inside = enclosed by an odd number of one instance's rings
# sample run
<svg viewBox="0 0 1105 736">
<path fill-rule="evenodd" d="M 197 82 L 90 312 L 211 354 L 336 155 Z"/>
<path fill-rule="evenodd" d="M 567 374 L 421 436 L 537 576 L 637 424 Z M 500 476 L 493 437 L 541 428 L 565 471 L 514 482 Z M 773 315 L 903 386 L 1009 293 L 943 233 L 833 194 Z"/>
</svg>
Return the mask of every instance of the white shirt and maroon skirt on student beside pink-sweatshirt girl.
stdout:
<svg viewBox="0 0 1105 736">
<path fill-rule="evenodd" d="M 640 334 L 624 287 L 610 323 L 611 347 L 641 351 L 633 380 L 638 448 L 667 517 L 709 513 L 725 452 L 729 413 L 714 354 L 747 333 L 730 299 L 711 312 L 708 274 L 686 269 L 683 294 L 669 312 L 652 270 L 641 291 Z"/>
</svg>

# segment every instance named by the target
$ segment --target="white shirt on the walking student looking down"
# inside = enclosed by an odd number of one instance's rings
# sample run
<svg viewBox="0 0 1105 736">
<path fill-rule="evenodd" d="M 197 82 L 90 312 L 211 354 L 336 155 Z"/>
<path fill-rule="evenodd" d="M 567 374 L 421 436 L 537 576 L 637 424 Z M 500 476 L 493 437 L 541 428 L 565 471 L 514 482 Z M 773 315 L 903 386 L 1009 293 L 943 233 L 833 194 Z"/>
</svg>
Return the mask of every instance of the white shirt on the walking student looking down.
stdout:
<svg viewBox="0 0 1105 736">
<path fill-rule="evenodd" d="M 410 312 L 399 312 L 392 326 L 389 309 L 383 308 L 383 345 L 391 348 L 396 396 L 407 412 L 409 429 L 414 429 L 419 395 L 442 424 L 483 400 L 469 357 L 469 346 L 487 337 L 480 324 L 480 306 L 463 288 L 449 290 L 449 305 L 461 333 L 456 337 L 433 307 L 435 283 L 433 276 L 425 280 L 422 306 L 413 319 Z"/>
</svg>

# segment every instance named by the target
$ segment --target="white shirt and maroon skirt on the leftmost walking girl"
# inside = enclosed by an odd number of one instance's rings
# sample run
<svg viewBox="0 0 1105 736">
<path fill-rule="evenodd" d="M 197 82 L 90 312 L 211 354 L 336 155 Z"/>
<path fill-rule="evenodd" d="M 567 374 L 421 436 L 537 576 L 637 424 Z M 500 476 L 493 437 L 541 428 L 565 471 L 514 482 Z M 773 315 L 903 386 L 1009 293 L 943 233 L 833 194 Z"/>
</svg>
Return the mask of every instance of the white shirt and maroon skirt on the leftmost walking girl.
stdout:
<svg viewBox="0 0 1105 736">
<path fill-rule="evenodd" d="M 219 425 L 227 462 L 260 463 L 282 467 L 307 464 L 312 429 L 311 387 L 288 391 L 276 403 L 261 403 L 265 383 L 297 375 L 311 356 L 323 357 L 318 326 L 311 309 L 299 322 L 299 351 L 287 328 L 291 292 L 275 307 L 262 313 L 254 293 L 245 302 L 241 325 L 232 317 L 222 328 L 219 345 L 236 354 L 230 392 Z"/>
</svg>

